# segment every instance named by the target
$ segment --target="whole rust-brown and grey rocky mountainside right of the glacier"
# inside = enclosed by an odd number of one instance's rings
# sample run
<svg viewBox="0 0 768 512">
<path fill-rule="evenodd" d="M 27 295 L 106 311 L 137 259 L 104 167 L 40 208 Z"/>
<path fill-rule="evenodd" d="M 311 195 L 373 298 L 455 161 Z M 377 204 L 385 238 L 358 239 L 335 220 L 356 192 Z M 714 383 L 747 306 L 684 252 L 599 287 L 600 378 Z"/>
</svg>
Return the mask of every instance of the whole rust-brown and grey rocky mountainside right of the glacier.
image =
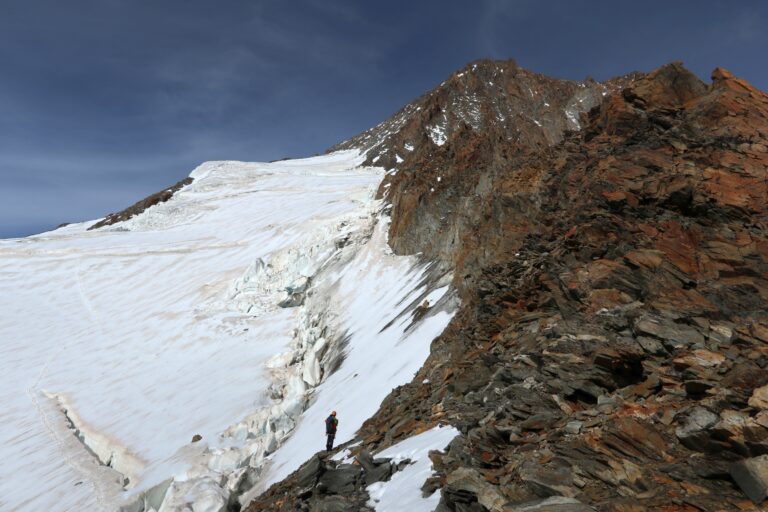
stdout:
<svg viewBox="0 0 768 512">
<path fill-rule="evenodd" d="M 608 84 L 472 66 L 345 143 L 393 159 L 391 245 L 453 267 L 462 299 L 358 439 L 456 427 L 442 511 L 759 510 L 768 95 L 679 63 Z M 473 91 L 505 121 L 445 107 Z M 314 506 L 294 488 L 252 510 Z"/>
</svg>

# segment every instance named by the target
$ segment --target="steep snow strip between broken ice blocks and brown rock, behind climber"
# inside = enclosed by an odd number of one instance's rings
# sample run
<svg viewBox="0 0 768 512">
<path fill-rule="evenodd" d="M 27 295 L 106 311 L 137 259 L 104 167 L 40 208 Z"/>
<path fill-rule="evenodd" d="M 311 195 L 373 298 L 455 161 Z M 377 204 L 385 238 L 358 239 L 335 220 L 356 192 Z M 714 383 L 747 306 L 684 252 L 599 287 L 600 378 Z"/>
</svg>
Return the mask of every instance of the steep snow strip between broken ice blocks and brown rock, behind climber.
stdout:
<svg viewBox="0 0 768 512">
<path fill-rule="evenodd" d="M 425 267 L 389 252 L 383 222 L 355 258 L 338 267 L 317 288 L 320 296 L 333 297 L 333 303 L 321 307 L 338 315 L 340 320 L 332 323 L 350 337 L 346 359 L 317 388 L 316 400 L 271 457 L 257 490 L 282 480 L 297 469 L 297 462 L 324 449 L 323 422 L 330 411 L 339 413 L 336 443 L 351 439 L 393 388 L 413 378 L 429 355 L 430 342 L 453 314 L 447 286 L 427 293 Z M 433 305 L 431 314 L 412 324 L 412 312 L 424 299 Z"/>
</svg>

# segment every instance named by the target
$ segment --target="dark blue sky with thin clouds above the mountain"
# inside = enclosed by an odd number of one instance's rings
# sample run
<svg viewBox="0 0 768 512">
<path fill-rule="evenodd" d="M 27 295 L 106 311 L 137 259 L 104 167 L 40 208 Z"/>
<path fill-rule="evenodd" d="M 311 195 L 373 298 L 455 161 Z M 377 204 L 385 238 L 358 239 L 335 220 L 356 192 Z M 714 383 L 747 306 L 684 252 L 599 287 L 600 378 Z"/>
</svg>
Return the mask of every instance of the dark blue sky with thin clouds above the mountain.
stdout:
<svg viewBox="0 0 768 512">
<path fill-rule="evenodd" d="M 480 58 L 602 80 L 682 60 L 768 89 L 768 2 L 2 0 L 0 238 L 207 160 L 322 153 Z"/>
</svg>

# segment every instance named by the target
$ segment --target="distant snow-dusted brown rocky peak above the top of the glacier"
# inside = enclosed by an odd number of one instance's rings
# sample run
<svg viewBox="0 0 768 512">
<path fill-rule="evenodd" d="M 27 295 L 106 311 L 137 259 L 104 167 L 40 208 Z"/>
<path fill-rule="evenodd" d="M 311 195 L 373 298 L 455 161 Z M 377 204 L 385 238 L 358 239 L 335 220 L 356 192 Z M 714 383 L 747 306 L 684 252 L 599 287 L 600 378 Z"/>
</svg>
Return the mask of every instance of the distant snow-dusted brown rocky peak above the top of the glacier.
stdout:
<svg viewBox="0 0 768 512">
<path fill-rule="evenodd" d="M 392 168 L 417 146 L 442 146 L 467 131 L 513 144 L 551 145 L 566 130 L 578 130 L 582 112 L 635 75 L 574 82 L 533 73 L 514 60 L 479 60 L 329 151 L 357 149 L 366 153 L 366 163 Z"/>
</svg>

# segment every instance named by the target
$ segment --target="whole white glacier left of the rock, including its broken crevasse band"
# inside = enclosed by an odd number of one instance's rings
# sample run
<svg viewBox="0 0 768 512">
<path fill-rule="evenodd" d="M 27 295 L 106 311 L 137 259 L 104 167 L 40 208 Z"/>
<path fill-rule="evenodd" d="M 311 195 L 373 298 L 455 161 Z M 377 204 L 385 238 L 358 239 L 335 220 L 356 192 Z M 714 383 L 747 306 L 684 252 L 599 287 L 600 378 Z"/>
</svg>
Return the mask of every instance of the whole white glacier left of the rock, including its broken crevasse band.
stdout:
<svg viewBox="0 0 768 512">
<path fill-rule="evenodd" d="M 0 510 L 218 511 L 330 409 L 350 439 L 455 309 L 361 161 L 210 162 L 129 221 L 0 241 Z"/>
</svg>

